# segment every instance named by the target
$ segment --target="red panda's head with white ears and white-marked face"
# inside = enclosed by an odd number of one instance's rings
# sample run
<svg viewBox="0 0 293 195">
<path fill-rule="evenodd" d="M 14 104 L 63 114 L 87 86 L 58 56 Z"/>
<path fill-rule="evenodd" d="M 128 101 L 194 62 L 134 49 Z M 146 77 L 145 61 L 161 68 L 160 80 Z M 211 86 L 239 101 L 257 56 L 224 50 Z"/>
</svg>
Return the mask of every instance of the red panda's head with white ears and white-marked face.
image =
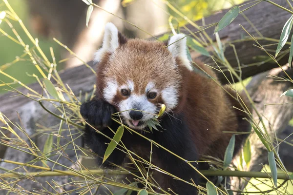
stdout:
<svg viewBox="0 0 293 195">
<path fill-rule="evenodd" d="M 183 85 L 179 66 L 192 70 L 183 38 L 174 35 L 168 44 L 175 43 L 166 47 L 159 41 L 126 39 L 112 23 L 106 24 L 94 59 L 99 62 L 98 96 L 122 112 L 130 128 L 145 128 L 163 103 L 166 112 L 177 107 Z"/>
</svg>

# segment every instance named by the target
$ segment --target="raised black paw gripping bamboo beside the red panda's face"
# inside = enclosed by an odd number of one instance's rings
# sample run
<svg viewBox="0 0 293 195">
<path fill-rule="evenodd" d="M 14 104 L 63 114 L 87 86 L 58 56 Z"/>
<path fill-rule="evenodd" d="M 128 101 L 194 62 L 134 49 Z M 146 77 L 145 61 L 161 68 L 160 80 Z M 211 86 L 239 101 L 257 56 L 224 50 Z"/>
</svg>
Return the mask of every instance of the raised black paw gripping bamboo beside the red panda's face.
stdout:
<svg viewBox="0 0 293 195">
<path fill-rule="evenodd" d="M 82 104 L 80 112 L 89 124 L 106 127 L 111 122 L 115 108 L 104 100 L 91 100 Z"/>
</svg>

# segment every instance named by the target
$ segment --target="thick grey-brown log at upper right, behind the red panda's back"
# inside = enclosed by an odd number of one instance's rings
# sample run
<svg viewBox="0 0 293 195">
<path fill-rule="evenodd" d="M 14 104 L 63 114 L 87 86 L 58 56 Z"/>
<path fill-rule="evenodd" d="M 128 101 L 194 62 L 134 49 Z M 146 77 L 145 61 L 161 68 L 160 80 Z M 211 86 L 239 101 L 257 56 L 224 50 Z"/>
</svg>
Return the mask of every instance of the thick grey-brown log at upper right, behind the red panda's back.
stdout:
<svg viewBox="0 0 293 195">
<path fill-rule="evenodd" d="M 290 9 L 286 0 L 274 0 L 274 2 L 285 8 Z M 251 6 L 251 4 L 244 7 L 246 8 L 249 6 Z M 244 9 L 242 8 L 241 10 Z M 208 25 L 208 24 L 212 24 L 212 23 L 220 21 L 228 11 L 229 9 L 223 10 L 221 13 L 214 14 L 212 16 L 205 18 L 204 20 L 205 24 Z M 261 73 L 263 71 L 267 71 L 272 68 L 275 68 L 278 65 L 274 61 L 263 63 L 261 62 L 260 58 L 256 58 L 258 56 L 268 57 L 268 55 L 263 50 L 259 49 L 256 46 L 253 46 L 253 44 L 256 45 L 256 42 L 254 40 L 251 40 L 249 35 L 243 30 L 243 28 L 239 24 L 241 24 L 251 34 L 251 36 L 255 36 L 261 45 L 268 45 L 268 44 L 277 43 L 277 42 L 269 41 L 264 38 L 278 40 L 280 38 L 284 24 L 292 16 L 292 14 L 266 1 L 260 2 L 259 4 L 244 11 L 243 13 L 253 23 L 254 26 L 251 26 L 250 22 L 246 20 L 243 17 L 243 15 L 239 14 L 235 20 L 233 20 L 227 27 L 220 30 L 218 33 L 222 43 L 223 44 L 225 43 L 225 46 L 226 46 L 226 50 L 224 53 L 226 59 L 229 61 L 232 67 L 238 69 L 235 53 L 233 51 L 233 48 L 229 45 L 229 43 L 232 43 L 235 45 L 237 55 L 242 67 L 241 68 L 242 78 L 244 79 L 244 78 L 248 78 L 253 75 L 256 75 L 258 73 Z M 202 20 L 198 20 L 195 23 L 198 26 L 203 25 Z M 188 24 L 186 27 L 193 33 L 198 31 L 198 29 L 196 29 L 191 24 Z M 258 32 L 262 36 L 257 34 L 254 27 L 258 30 Z M 205 31 L 209 35 L 209 37 L 215 42 L 216 39 L 215 39 L 215 36 L 213 35 L 214 27 L 208 28 Z M 190 32 L 187 31 L 185 28 L 181 28 L 181 32 L 185 34 L 190 34 Z M 200 37 L 199 34 L 196 34 L 196 36 Z M 245 36 L 245 38 L 242 38 L 243 36 Z M 202 36 L 202 37 L 205 37 L 205 36 Z M 208 42 L 207 39 L 205 39 L 205 41 Z M 285 45 L 282 51 L 286 50 L 287 48 L 288 48 L 288 45 Z M 207 49 L 211 51 L 212 47 L 209 46 Z M 266 46 L 265 49 L 270 54 L 273 54 L 274 56 L 276 44 L 271 46 Z M 200 56 L 200 54 L 195 51 L 191 52 L 191 57 L 192 59 L 200 59 L 204 61 L 206 64 L 216 67 L 211 58 L 206 56 Z M 282 59 L 278 60 L 279 64 L 284 65 L 288 63 L 288 57 L 289 57 L 289 53 L 285 55 Z M 258 64 L 250 66 L 251 64 L 254 64 L 257 62 Z M 228 71 L 226 71 L 225 75 L 231 81 L 231 76 Z M 227 79 L 224 77 L 224 75 L 222 75 L 222 73 L 219 73 L 218 77 L 222 81 L 222 83 L 227 83 Z"/>
</svg>

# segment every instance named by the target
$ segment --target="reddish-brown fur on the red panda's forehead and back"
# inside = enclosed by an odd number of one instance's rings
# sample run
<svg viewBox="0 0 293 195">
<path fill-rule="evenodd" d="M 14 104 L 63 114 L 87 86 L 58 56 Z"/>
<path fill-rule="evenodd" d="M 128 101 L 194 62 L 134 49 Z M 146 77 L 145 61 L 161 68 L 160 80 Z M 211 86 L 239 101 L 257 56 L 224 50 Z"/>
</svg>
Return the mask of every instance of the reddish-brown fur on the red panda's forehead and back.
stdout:
<svg viewBox="0 0 293 195">
<path fill-rule="evenodd" d="M 121 38 L 120 38 L 121 39 Z M 123 39 L 125 40 L 125 39 Z M 178 84 L 180 100 L 174 112 L 185 113 L 186 121 L 192 131 L 200 155 L 224 157 L 225 150 L 232 134 L 238 129 L 237 115 L 232 108 L 237 102 L 228 98 L 226 92 L 209 77 L 189 71 L 180 59 L 174 60 L 162 42 L 141 39 L 129 39 L 121 44 L 113 55 L 105 54 L 99 63 L 97 86 L 98 96 L 101 97 L 105 87 L 105 77 L 116 76 L 119 85 L 125 84 L 131 78 L 135 85 L 136 94 L 144 94 L 147 83 L 152 81 L 159 90 L 167 85 Z M 108 68 L 111 63 L 111 68 Z M 178 64 L 177 68 L 173 65 Z M 212 78 L 215 73 L 203 63 L 198 65 Z M 230 90 L 230 92 L 232 92 Z M 120 94 L 120 93 L 117 93 Z M 117 95 L 113 102 L 124 99 Z M 161 97 L 153 103 L 164 103 Z M 238 108 L 239 105 L 237 105 Z"/>
</svg>

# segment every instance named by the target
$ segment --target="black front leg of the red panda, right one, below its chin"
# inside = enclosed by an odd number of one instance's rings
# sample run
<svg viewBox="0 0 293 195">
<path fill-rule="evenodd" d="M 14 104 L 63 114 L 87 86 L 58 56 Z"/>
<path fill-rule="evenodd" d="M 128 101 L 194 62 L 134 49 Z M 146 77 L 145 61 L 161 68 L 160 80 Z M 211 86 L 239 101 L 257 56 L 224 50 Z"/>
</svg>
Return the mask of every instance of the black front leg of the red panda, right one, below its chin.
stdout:
<svg viewBox="0 0 293 195">
<path fill-rule="evenodd" d="M 182 118 L 175 116 L 175 118 Z M 198 160 L 196 146 L 191 140 L 190 131 L 186 124 L 179 119 L 173 119 L 165 117 L 161 122 L 163 127 L 162 131 L 156 131 L 154 140 L 160 143 L 162 146 L 175 153 L 176 155 L 186 159 L 187 161 Z M 198 184 L 199 175 L 186 161 L 170 154 L 162 148 L 154 149 L 154 153 L 160 159 L 161 167 L 168 173 L 177 176 L 189 183 L 193 182 Z M 196 163 L 192 163 L 196 167 Z M 163 188 L 170 188 L 178 195 L 195 195 L 197 188 L 171 176 L 164 174 Z"/>
</svg>

